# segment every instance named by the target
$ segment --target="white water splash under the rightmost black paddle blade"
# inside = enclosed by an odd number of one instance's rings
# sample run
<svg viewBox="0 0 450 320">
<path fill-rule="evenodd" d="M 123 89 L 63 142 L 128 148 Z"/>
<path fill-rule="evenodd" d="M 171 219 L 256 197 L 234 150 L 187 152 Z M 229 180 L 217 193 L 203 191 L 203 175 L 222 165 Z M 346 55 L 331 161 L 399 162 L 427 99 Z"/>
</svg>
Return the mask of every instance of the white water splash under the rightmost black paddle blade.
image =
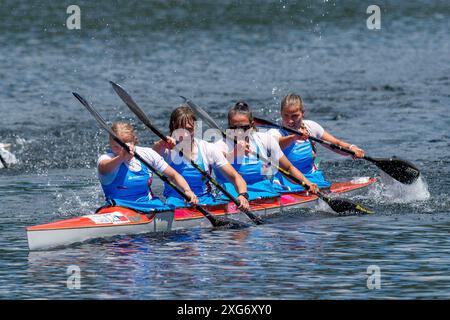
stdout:
<svg viewBox="0 0 450 320">
<path fill-rule="evenodd" d="M 381 173 L 379 182 L 369 188 L 368 198 L 378 203 L 411 203 L 429 200 L 431 194 L 428 184 L 420 176 L 413 184 L 402 184 L 385 173 Z"/>
</svg>

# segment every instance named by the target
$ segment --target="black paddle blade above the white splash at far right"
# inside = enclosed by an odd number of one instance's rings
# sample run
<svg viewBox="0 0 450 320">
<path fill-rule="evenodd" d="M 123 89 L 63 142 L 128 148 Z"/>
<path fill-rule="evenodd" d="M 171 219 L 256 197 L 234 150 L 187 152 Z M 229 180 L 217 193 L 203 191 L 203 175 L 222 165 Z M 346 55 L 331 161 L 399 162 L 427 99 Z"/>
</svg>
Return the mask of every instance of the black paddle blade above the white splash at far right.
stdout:
<svg viewBox="0 0 450 320">
<path fill-rule="evenodd" d="M 386 172 L 395 180 L 404 183 L 412 184 L 420 176 L 420 171 L 409 161 L 392 157 L 392 158 L 367 158 L 373 162 L 378 168 Z"/>
</svg>

